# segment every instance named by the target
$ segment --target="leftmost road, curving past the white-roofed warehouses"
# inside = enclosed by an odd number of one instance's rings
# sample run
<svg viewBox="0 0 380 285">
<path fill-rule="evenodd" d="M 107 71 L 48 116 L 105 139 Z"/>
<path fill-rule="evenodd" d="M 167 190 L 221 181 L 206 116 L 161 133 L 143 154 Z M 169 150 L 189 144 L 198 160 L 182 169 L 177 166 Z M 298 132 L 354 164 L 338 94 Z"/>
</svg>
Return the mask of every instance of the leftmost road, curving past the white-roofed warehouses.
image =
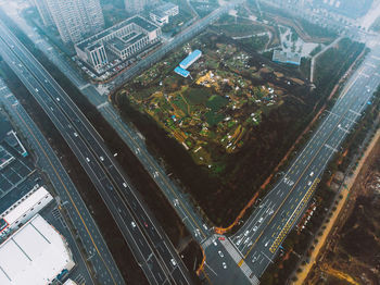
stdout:
<svg viewBox="0 0 380 285">
<path fill-rule="evenodd" d="M 0 99 L 35 150 L 38 157 L 37 165 L 49 176 L 59 197 L 63 200 L 83 247 L 87 256 L 91 257 L 90 261 L 97 273 L 96 278 L 101 284 L 124 284 L 113 257 L 78 190 L 42 133 L 2 80 L 0 80 Z M 76 244 L 69 243 L 69 245 L 72 250 L 77 250 Z M 93 283 L 89 276 L 86 277 L 84 274 L 84 277 L 86 284 Z"/>
</svg>

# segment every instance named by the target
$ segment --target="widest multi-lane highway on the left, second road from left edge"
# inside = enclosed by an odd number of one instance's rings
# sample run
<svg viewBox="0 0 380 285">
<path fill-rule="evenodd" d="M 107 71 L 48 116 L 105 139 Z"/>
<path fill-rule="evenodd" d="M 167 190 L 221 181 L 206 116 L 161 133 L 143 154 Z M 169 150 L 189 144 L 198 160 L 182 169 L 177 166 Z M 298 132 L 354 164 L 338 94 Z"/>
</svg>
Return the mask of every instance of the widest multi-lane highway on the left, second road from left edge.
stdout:
<svg viewBox="0 0 380 285">
<path fill-rule="evenodd" d="M 189 284 L 188 272 L 141 203 L 104 142 L 69 97 L 27 49 L 1 25 L 1 55 L 71 147 L 116 221 L 151 284 Z"/>
</svg>

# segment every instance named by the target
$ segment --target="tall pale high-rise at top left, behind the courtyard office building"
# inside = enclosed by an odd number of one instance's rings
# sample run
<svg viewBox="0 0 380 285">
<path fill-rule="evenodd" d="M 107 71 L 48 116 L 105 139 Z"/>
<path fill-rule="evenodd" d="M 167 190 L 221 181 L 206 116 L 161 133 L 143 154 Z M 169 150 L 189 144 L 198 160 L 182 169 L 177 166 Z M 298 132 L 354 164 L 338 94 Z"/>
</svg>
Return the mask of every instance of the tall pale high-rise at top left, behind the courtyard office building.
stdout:
<svg viewBox="0 0 380 285">
<path fill-rule="evenodd" d="M 49 16 L 64 42 L 78 42 L 104 26 L 99 0 L 35 0 L 43 23 Z"/>
</svg>

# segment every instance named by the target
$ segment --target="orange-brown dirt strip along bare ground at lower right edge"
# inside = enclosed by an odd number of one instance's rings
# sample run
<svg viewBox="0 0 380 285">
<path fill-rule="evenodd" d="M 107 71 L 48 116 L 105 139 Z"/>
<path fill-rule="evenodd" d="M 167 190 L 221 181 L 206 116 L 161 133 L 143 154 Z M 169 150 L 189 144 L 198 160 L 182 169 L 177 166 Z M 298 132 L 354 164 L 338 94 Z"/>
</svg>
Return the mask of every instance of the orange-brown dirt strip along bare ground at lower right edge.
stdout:
<svg viewBox="0 0 380 285">
<path fill-rule="evenodd" d="M 347 197 L 349 197 L 349 194 L 350 194 L 350 190 L 351 188 L 353 187 L 355 181 L 356 181 L 356 177 L 358 176 L 360 170 L 362 170 L 362 166 L 364 165 L 364 163 L 366 162 L 368 156 L 371 153 L 373 147 L 377 145 L 377 142 L 379 141 L 380 139 L 380 131 L 378 131 L 376 133 L 376 135 L 373 136 L 370 145 L 368 146 L 365 154 L 362 157 L 354 174 L 345 181 L 345 185 L 346 187 L 343 187 L 342 190 L 341 190 L 341 195 L 343 196 L 342 199 L 340 199 L 338 206 L 337 206 L 337 210 L 333 212 L 332 216 L 330 218 L 330 222 L 326 225 L 326 230 L 324 231 L 324 235 L 321 237 L 318 238 L 318 244 L 315 245 L 315 249 L 313 250 L 312 252 L 312 256 L 311 256 L 311 261 L 308 263 L 306 263 L 306 265 L 304 267 L 301 267 L 302 269 L 302 272 L 297 273 L 296 274 L 296 277 L 297 277 L 297 281 L 296 282 L 293 282 L 292 284 L 293 285 L 302 285 L 304 284 L 309 271 L 312 270 L 313 265 L 315 264 L 317 258 L 318 258 L 318 255 L 319 255 L 319 251 L 320 249 L 324 247 L 325 245 L 325 241 L 326 239 L 328 238 L 330 232 L 331 232 L 331 228 L 333 227 L 341 210 L 344 208 L 345 206 L 345 202 L 347 200 Z"/>
</svg>

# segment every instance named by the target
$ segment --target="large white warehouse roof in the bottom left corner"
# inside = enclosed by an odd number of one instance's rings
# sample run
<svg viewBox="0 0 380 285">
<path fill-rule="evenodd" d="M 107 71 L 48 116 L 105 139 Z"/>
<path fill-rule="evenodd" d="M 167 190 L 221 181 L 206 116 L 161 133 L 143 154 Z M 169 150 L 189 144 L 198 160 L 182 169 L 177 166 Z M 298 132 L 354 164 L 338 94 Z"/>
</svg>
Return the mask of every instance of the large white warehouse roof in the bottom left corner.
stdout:
<svg viewBox="0 0 380 285">
<path fill-rule="evenodd" d="M 0 245 L 1 285 L 49 284 L 74 267 L 62 236 L 39 214 Z"/>
</svg>

